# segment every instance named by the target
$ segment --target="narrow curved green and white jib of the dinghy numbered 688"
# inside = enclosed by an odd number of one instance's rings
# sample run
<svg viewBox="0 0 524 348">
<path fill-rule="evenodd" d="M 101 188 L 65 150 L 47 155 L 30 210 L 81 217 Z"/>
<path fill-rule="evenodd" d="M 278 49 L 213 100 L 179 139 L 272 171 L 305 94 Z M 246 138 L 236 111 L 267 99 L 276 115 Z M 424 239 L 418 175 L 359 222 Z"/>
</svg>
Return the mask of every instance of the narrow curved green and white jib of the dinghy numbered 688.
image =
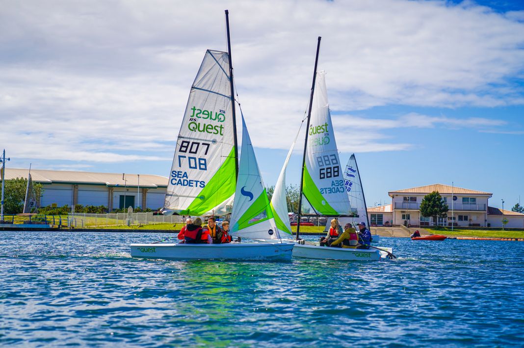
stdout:
<svg viewBox="0 0 524 348">
<path fill-rule="evenodd" d="M 300 125 L 300 128 L 302 128 L 302 125 Z M 286 160 L 284 161 L 284 165 L 280 170 L 280 175 L 278 176 L 277 184 L 275 185 L 275 190 L 273 191 L 273 195 L 271 197 L 271 210 L 275 217 L 277 228 L 278 230 L 288 234 L 291 234 L 291 223 L 289 221 L 288 201 L 286 195 L 286 169 L 288 167 L 291 154 L 293 153 L 293 148 L 295 144 L 297 144 L 299 134 L 300 129 L 297 133 L 297 136 L 293 140 L 293 144 L 291 144 L 291 148 L 289 149 Z"/>
</svg>

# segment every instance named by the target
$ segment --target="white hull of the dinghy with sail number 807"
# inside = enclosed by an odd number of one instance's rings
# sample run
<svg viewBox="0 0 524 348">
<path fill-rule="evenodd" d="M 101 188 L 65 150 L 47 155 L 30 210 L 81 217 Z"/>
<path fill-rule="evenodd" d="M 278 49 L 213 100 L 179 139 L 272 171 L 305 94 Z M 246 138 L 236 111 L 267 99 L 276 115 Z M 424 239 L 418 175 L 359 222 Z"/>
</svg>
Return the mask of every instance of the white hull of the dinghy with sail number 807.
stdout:
<svg viewBox="0 0 524 348">
<path fill-rule="evenodd" d="M 293 243 L 131 244 L 131 256 L 167 260 L 291 260 Z"/>
</svg>

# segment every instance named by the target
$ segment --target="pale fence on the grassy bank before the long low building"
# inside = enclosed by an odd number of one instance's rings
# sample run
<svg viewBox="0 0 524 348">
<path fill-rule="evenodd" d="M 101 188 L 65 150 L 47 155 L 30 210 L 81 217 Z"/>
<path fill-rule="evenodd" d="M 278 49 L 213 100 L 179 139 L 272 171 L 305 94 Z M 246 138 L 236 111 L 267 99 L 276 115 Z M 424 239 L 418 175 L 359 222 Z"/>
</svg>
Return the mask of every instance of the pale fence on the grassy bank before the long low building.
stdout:
<svg viewBox="0 0 524 348">
<path fill-rule="evenodd" d="M 68 215 L 68 225 L 77 228 L 148 225 L 160 223 L 176 224 L 183 222 L 184 216 L 181 215 L 166 216 L 153 215 L 153 213 L 74 213 Z"/>
</svg>

